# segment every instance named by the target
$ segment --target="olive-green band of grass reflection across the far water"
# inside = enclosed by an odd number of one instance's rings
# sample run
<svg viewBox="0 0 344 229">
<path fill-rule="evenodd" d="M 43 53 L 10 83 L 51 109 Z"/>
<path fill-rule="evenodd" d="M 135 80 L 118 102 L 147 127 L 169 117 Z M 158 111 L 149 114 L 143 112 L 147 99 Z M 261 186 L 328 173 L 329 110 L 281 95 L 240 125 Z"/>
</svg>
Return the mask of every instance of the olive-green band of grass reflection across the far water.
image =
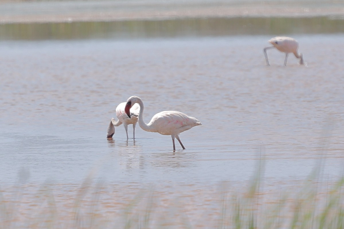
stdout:
<svg viewBox="0 0 344 229">
<path fill-rule="evenodd" d="M 342 18 L 225 17 L 111 22 L 0 23 L 0 40 L 343 33 Z"/>
</svg>

